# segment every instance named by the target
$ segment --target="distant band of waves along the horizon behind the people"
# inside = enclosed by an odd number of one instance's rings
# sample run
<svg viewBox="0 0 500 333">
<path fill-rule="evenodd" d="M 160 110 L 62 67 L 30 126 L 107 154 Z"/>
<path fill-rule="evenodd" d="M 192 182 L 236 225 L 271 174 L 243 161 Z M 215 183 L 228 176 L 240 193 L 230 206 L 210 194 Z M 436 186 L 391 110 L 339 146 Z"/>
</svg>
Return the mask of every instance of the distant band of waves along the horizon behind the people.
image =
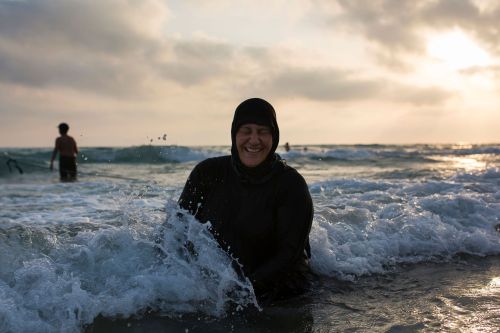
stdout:
<svg viewBox="0 0 500 333">
<path fill-rule="evenodd" d="M 7 148 L 0 158 L 13 158 L 20 165 L 47 167 L 52 150 L 47 148 Z M 230 148 L 142 145 L 123 148 L 83 147 L 79 163 L 182 163 L 227 155 Z M 314 161 L 381 161 L 402 159 L 432 162 L 433 156 L 500 155 L 500 145 L 310 145 L 292 146 L 290 151 L 279 147 L 285 159 L 306 158 Z"/>
</svg>

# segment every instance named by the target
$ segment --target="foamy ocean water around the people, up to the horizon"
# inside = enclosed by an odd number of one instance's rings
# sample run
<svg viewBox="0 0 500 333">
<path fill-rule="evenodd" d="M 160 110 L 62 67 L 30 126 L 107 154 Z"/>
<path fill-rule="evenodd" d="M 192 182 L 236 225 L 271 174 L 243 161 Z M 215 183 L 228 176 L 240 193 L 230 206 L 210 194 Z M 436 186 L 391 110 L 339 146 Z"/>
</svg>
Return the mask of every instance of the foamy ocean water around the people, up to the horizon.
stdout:
<svg viewBox="0 0 500 333">
<path fill-rule="evenodd" d="M 229 151 L 81 148 L 61 183 L 51 149 L 0 149 L 0 332 L 500 330 L 500 144 L 279 148 L 313 198 L 315 278 L 271 304 L 176 217 Z"/>
</svg>

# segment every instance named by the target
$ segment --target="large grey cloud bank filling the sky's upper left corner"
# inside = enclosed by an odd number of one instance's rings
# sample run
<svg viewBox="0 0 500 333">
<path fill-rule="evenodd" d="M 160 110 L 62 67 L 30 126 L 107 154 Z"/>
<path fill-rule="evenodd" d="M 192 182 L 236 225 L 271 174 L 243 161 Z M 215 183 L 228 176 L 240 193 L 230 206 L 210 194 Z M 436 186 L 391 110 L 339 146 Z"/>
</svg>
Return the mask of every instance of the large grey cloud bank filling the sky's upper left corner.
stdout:
<svg viewBox="0 0 500 333">
<path fill-rule="evenodd" d="M 98 94 L 138 92 L 149 77 L 145 54 L 161 45 L 156 29 L 167 13 L 154 0 L 2 1 L 0 80 Z"/>
</svg>

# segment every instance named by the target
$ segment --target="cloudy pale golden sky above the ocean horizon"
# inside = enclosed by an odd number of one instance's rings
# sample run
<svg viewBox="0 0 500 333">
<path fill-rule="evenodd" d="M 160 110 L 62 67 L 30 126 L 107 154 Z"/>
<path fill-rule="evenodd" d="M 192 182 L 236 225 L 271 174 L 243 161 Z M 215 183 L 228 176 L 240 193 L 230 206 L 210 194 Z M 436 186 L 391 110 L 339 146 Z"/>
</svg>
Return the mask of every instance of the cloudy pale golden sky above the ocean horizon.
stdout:
<svg viewBox="0 0 500 333">
<path fill-rule="evenodd" d="M 0 0 L 0 147 L 500 142 L 500 2 Z M 165 136 L 166 134 L 166 136 Z M 163 140 L 165 138 L 165 140 Z"/>
</svg>

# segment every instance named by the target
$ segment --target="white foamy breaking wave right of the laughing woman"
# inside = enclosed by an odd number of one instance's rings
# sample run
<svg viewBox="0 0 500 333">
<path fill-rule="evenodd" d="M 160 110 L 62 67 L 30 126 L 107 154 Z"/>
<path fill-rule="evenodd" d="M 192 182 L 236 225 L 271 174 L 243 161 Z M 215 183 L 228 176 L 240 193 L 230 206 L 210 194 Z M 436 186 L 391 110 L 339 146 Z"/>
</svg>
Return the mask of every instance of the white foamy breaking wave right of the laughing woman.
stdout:
<svg viewBox="0 0 500 333">
<path fill-rule="evenodd" d="M 492 190 L 471 190 L 463 181 L 470 177 L 489 181 Z M 401 263 L 500 254 L 491 170 L 420 183 L 327 181 L 311 190 L 312 264 L 320 274 L 352 280 Z"/>
</svg>

